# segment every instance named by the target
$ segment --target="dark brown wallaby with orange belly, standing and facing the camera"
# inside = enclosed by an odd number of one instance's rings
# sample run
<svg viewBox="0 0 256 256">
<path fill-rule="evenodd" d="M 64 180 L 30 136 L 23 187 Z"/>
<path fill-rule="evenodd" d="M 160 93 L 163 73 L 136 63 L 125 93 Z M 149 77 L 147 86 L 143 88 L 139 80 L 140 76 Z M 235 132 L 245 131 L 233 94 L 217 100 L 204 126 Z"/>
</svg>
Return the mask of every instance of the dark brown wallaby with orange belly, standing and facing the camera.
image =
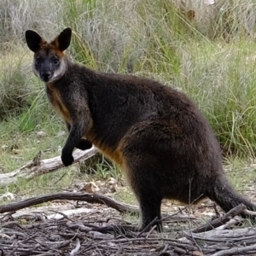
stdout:
<svg viewBox="0 0 256 256">
<path fill-rule="evenodd" d="M 100 73 L 69 61 L 64 50 L 71 37 L 66 28 L 48 43 L 26 31 L 33 71 L 67 123 L 65 166 L 73 163 L 75 147 L 92 144 L 117 163 L 137 196 L 141 230 L 161 218 L 164 198 L 190 203 L 209 197 L 225 212 L 240 203 L 255 209 L 230 186 L 217 139 L 187 96 L 150 79 Z"/>
</svg>

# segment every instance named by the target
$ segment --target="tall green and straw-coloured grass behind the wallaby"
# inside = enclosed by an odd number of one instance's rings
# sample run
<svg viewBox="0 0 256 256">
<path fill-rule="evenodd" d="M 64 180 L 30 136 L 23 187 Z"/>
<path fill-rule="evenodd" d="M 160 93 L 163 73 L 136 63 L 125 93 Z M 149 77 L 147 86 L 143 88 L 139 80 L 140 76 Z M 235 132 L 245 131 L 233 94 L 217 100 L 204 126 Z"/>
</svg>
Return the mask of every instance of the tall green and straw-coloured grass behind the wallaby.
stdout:
<svg viewBox="0 0 256 256">
<path fill-rule="evenodd" d="M 32 53 L 24 32 L 34 29 L 52 39 L 67 26 L 73 29 L 67 50 L 73 61 L 102 72 L 135 73 L 182 90 L 209 120 L 227 160 L 254 160 L 256 4 L 253 0 L 220 1 L 214 6 L 190 2 L 3 0 L 0 143 L 7 146 L 0 148 L 3 171 L 22 166 L 39 150 L 44 158 L 60 154 L 67 134 L 57 134 L 66 128 L 49 106 L 44 84 L 32 74 Z M 195 17 L 189 16 L 191 10 Z M 38 131 L 47 136 L 38 139 Z M 18 154 L 12 151 L 14 146 Z M 93 168 L 96 178 L 121 176 L 103 159 Z M 61 172 L 55 175 L 61 177 Z M 77 172 L 70 175 L 62 179 L 67 185 Z M 52 178 L 38 177 L 35 185 L 30 181 L 15 186 L 44 188 L 49 183 L 50 187 Z"/>
</svg>

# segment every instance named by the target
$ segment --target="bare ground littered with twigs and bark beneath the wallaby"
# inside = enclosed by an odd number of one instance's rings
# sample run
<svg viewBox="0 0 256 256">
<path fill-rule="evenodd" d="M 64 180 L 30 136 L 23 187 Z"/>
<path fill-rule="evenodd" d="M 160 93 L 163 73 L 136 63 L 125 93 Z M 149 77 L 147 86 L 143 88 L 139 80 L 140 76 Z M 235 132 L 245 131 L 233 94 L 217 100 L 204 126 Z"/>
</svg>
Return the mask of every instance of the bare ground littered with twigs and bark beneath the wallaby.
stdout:
<svg viewBox="0 0 256 256">
<path fill-rule="evenodd" d="M 253 200 L 250 187 L 247 197 Z M 84 191 L 114 197 L 131 193 L 109 182 L 74 183 L 66 192 Z M 250 193 L 248 193 L 250 191 Z M 210 230 L 196 229 L 224 212 L 210 200 L 188 207 L 163 201 L 164 232 L 114 230 L 95 227 L 137 224 L 138 216 L 122 214 L 103 204 L 84 201 L 51 201 L 37 207 L 0 214 L 0 255 L 256 255 L 256 226 L 241 218 L 227 218 Z M 227 222 L 228 221 L 228 222 Z M 211 226 L 211 224 L 209 225 Z"/>
</svg>

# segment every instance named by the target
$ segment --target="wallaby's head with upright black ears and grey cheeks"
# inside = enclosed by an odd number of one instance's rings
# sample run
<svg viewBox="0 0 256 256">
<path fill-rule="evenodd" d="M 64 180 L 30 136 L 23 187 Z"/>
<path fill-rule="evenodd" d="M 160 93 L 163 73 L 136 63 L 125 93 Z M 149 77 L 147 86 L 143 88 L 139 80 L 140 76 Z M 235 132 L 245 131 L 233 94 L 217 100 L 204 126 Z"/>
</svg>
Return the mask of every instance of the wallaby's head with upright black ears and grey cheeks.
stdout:
<svg viewBox="0 0 256 256">
<path fill-rule="evenodd" d="M 34 52 L 33 71 L 45 83 L 60 79 L 67 69 L 63 51 L 67 49 L 72 30 L 67 27 L 52 42 L 48 43 L 38 32 L 27 30 L 26 44 Z"/>
</svg>

